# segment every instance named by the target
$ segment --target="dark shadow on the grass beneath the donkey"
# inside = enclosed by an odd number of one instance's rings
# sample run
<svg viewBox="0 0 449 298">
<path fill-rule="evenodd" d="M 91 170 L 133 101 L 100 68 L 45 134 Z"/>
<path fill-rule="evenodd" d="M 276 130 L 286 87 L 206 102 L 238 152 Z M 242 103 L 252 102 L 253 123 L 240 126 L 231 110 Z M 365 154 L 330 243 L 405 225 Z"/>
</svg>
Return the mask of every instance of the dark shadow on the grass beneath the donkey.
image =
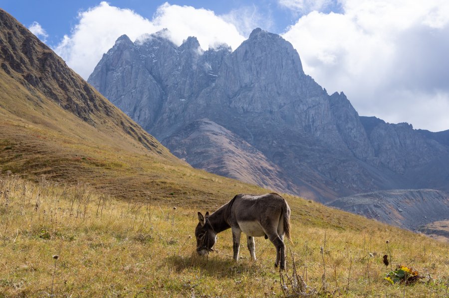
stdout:
<svg viewBox="0 0 449 298">
<path fill-rule="evenodd" d="M 241 272 L 251 274 L 260 270 L 259 266 L 254 266 L 254 263 L 247 260 L 242 260 L 237 265 L 231 258 L 225 260 L 217 255 L 210 255 L 209 257 L 175 255 L 167 257 L 167 260 L 175 267 L 177 272 L 182 272 L 186 269 L 199 269 L 216 277 L 232 277 L 239 275 Z"/>
</svg>

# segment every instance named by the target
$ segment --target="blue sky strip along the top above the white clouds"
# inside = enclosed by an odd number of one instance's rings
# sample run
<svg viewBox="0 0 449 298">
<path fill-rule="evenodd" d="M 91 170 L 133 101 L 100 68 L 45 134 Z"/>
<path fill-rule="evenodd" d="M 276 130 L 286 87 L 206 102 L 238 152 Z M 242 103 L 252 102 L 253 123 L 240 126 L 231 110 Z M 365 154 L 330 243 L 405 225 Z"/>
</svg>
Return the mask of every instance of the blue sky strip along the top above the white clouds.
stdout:
<svg viewBox="0 0 449 298">
<path fill-rule="evenodd" d="M 78 22 L 78 12 L 85 11 L 90 7 L 97 6 L 100 1 L 94 0 L 3 0 L 1 8 L 12 14 L 25 26 L 38 22 L 45 29 L 48 37 L 46 41 L 50 45 L 56 45 L 63 36 L 70 32 L 71 28 Z M 109 0 L 112 6 L 130 8 L 140 15 L 151 19 L 158 6 L 166 1 L 154 0 Z M 282 33 L 285 29 L 293 25 L 301 12 L 292 11 L 272 0 L 197 0 L 180 1 L 172 0 L 170 4 L 190 5 L 196 8 L 206 8 L 213 10 L 216 14 L 226 14 L 232 9 L 242 6 L 257 7 L 259 13 L 267 15 L 274 21 L 269 28 L 274 33 Z M 338 3 L 332 2 L 325 8 L 325 11 L 338 11 L 341 7 Z"/>
</svg>

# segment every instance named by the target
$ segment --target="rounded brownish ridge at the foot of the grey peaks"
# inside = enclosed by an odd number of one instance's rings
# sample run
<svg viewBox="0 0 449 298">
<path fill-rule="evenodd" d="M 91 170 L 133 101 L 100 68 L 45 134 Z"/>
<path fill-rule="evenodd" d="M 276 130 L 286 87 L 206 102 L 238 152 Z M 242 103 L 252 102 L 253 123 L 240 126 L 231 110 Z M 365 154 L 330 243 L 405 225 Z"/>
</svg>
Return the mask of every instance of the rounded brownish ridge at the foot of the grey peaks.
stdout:
<svg viewBox="0 0 449 298">
<path fill-rule="evenodd" d="M 176 148 L 173 154 L 209 172 L 272 189 L 289 182 L 278 178 L 280 169 L 260 151 L 209 119 L 191 123 L 165 139 L 164 145 Z"/>
</svg>

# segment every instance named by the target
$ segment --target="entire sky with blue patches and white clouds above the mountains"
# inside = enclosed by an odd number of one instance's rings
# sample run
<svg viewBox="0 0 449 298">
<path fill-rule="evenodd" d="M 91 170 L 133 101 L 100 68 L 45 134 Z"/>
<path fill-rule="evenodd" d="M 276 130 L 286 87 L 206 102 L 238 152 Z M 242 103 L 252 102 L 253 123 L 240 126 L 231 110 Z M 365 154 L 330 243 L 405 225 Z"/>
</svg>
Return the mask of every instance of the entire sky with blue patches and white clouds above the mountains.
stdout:
<svg viewBox="0 0 449 298">
<path fill-rule="evenodd" d="M 304 72 L 361 116 L 449 129 L 448 0 L 1 0 L 0 7 L 87 79 L 122 34 L 163 28 L 181 44 L 235 49 L 253 28 L 280 34 Z"/>
</svg>

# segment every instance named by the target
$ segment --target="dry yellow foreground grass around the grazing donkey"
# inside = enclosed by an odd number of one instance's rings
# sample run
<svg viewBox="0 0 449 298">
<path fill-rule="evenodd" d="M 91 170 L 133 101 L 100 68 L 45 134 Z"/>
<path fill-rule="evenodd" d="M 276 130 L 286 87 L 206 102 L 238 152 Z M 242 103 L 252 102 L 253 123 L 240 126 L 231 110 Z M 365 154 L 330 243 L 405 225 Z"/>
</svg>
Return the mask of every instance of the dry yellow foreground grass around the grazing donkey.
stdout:
<svg viewBox="0 0 449 298">
<path fill-rule="evenodd" d="M 42 297 L 51 291 L 56 297 L 284 295 L 273 267 L 274 247 L 263 238 L 256 239 L 255 263 L 244 244 L 244 259 L 231 262 L 229 231 L 219 234 L 219 253 L 204 259 L 192 254 L 196 210 L 118 201 L 83 184 L 30 183 L 5 173 L 1 180 L 0 296 Z M 294 243 L 287 243 L 287 251 L 294 254 L 298 275 L 318 295 L 402 297 L 404 290 L 414 297 L 447 295 L 447 244 L 344 212 L 334 218 L 342 221 L 346 215 L 358 224 L 343 229 L 310 223 L 299 214 L 301 206 L 324 213 L 327 208 L 299 198 L 289 198 L 289 204 Z M 425 281 L 404 287 L 383 280 L 387 239 L 393 264 L 413 266 Z M 287 259 L 291 277 L 292 258 Z"/>
</svg>

